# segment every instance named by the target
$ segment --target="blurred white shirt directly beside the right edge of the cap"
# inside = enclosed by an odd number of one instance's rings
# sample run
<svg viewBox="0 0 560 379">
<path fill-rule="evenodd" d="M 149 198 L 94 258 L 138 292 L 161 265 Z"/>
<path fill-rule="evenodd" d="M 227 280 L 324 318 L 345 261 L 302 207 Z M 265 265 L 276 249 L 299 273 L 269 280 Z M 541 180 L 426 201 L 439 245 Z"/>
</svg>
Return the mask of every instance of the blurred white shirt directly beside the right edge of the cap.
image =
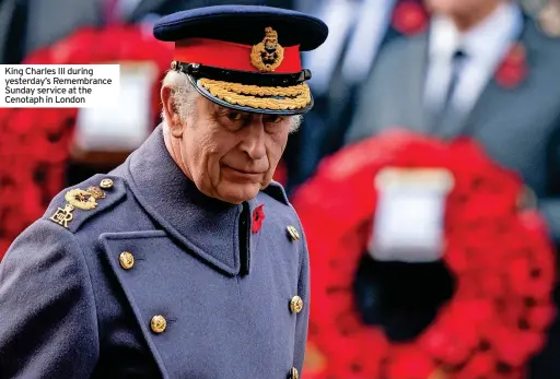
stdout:
<svg viewBox="0 0 560 379">
<path fill-rule="evenodd" d="M 320 47 L 303 56 L 305 68 L 313 74 L 310 85 L 315 94 L 328 91 L 350 33 L 342 74 L 352 82 L 365 79 L 385 35 L 395 1 L 323 0 L 317 15 L 328 25 L 328 38 Z"/>
</svg>

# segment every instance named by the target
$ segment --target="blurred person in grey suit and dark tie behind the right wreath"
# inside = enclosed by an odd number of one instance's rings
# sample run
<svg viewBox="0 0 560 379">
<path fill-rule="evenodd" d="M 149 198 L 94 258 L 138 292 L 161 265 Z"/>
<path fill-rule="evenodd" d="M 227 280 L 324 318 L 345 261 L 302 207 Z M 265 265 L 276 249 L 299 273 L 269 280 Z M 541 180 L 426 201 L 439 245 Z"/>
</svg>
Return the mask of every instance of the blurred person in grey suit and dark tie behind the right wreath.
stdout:
<svg viewBox="0 0 560 379">
<path fill-rule="evenodd" d="M 427 0 L 425 5 L 432 13 L 429 31 L 418 37 L 399 39 L 382 52 L 360 94 L 345 143 L 393 127 L 445 140 L 460 135 L 474 138 L 498 164 L 521 175 L 558 245 L 560 38 L 557 31 L 550 23 L 538 23 L 512 0 Z M 370 262 L 364 275 L 386 273 L 383 264 L 386 263 Z M 404 275 L 406 270 L 392 274 Z M 422 284 L 422 277 L 433 277 L 430 270 L 436 268 L 412 270 L 419 283 L 415 294 L 433 289 Z M 439 272 L 450 287 L 450 279 L 444 271 Z M 387 285 L 378 279 L 370 284 Z M 411 292 L 402 295 L 402 301 L 407 296 L 415 296 Z M 433 304 L 451 296 L 450 291 L 438 292 L 430 295 L 440 297 L 432 299 Z M 418 322 L 421 329 L 427 323 L 425 317 Z M 547 347 L 533 363 L 530 378 L 560 375 L 559 329 L 557 321 Z"/>
</svg>

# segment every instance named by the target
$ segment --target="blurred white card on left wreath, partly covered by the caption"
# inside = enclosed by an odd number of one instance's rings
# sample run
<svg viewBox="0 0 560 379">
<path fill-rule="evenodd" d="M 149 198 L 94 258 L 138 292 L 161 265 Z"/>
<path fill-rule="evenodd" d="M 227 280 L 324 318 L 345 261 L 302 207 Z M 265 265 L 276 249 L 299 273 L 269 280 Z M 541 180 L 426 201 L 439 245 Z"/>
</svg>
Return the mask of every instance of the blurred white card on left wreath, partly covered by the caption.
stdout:
<svg viewBox="0 0 560 379">
<path fill-rule="evenodd" d="M 120 100 L 113 107 L 81 108 L 74 144 L 82 152 L 132 151 L 151 132 L 152 90 L 158 69 L 152 62 L 120 62 Z"/>
</svg>

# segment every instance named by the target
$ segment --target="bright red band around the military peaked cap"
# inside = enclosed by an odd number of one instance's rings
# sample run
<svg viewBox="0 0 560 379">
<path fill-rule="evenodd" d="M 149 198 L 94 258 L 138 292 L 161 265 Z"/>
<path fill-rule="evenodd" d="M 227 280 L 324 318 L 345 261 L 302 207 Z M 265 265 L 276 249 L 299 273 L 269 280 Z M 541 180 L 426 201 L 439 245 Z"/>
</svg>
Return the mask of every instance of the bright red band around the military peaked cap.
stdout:
<svg viewBox="0 0 560 379">
<path fill-rule="evenodd" d="M 189 38 L 175 43 L 174 60 L 200 63 L 222 69 L 260 72 L 250 63 L 253 46 L 207 38 Z M 273 73 L 295 73 L 302 70 L 300 46 L 284 47 L 282 63 Z"/>
</svg>

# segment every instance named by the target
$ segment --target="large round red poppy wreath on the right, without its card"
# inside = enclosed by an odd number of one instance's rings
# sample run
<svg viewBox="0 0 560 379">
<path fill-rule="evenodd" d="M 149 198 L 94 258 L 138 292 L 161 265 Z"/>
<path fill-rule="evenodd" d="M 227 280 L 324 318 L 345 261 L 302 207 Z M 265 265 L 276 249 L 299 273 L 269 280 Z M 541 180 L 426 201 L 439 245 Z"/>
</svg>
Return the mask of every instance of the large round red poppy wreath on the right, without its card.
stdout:
<svg viewBox="0 0 560 379">
<path fill-rule="evenodd" d="M 443 168 L 443 264 L 456 281 L 433 320 L 406 342 L 366 324 L 353 282 L 371 236 L 383 168 Z M 523 185 L 474 141 L 392 131 L 326 158 L 293 196 L 312 267 L 310 345 L 315 379 L 523 378 L 555 317 L 553 251 Z M 425 277 L 430 281 L 430 277 Z"/>
</svg>

